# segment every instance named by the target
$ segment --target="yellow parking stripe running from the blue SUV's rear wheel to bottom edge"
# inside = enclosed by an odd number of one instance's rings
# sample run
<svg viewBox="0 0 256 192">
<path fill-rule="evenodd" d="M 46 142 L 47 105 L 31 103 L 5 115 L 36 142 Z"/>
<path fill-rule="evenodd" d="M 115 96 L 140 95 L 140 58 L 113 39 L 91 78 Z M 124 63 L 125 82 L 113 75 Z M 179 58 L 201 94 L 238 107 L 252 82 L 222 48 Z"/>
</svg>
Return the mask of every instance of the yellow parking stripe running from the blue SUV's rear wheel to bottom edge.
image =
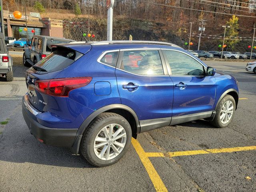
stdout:
<svg viewBox="0 0 256 192">
<path fill-rule="evenodd" d="M 142 164 L 146 168 L 146 171 L 148 172 L 148 175 L 149 175 L 156 191 L 157 192 L 158 191 L 161 191 L 161 192 L 166 191 L 167 192 L 168 190 L 164 186 L 164 183 L 162 182 L 160 176 L 156 172 L 156 169 L 154 168 L 154 166 L 150 162 L 148 156 L 146 155 L 146 152 L 143 150 L 140 143 L 136 139 L 132 138 L 132 145 L 134 146 L 138 156 L 140 157 L 140 160 L 141 160 Z"/>
</svg>

